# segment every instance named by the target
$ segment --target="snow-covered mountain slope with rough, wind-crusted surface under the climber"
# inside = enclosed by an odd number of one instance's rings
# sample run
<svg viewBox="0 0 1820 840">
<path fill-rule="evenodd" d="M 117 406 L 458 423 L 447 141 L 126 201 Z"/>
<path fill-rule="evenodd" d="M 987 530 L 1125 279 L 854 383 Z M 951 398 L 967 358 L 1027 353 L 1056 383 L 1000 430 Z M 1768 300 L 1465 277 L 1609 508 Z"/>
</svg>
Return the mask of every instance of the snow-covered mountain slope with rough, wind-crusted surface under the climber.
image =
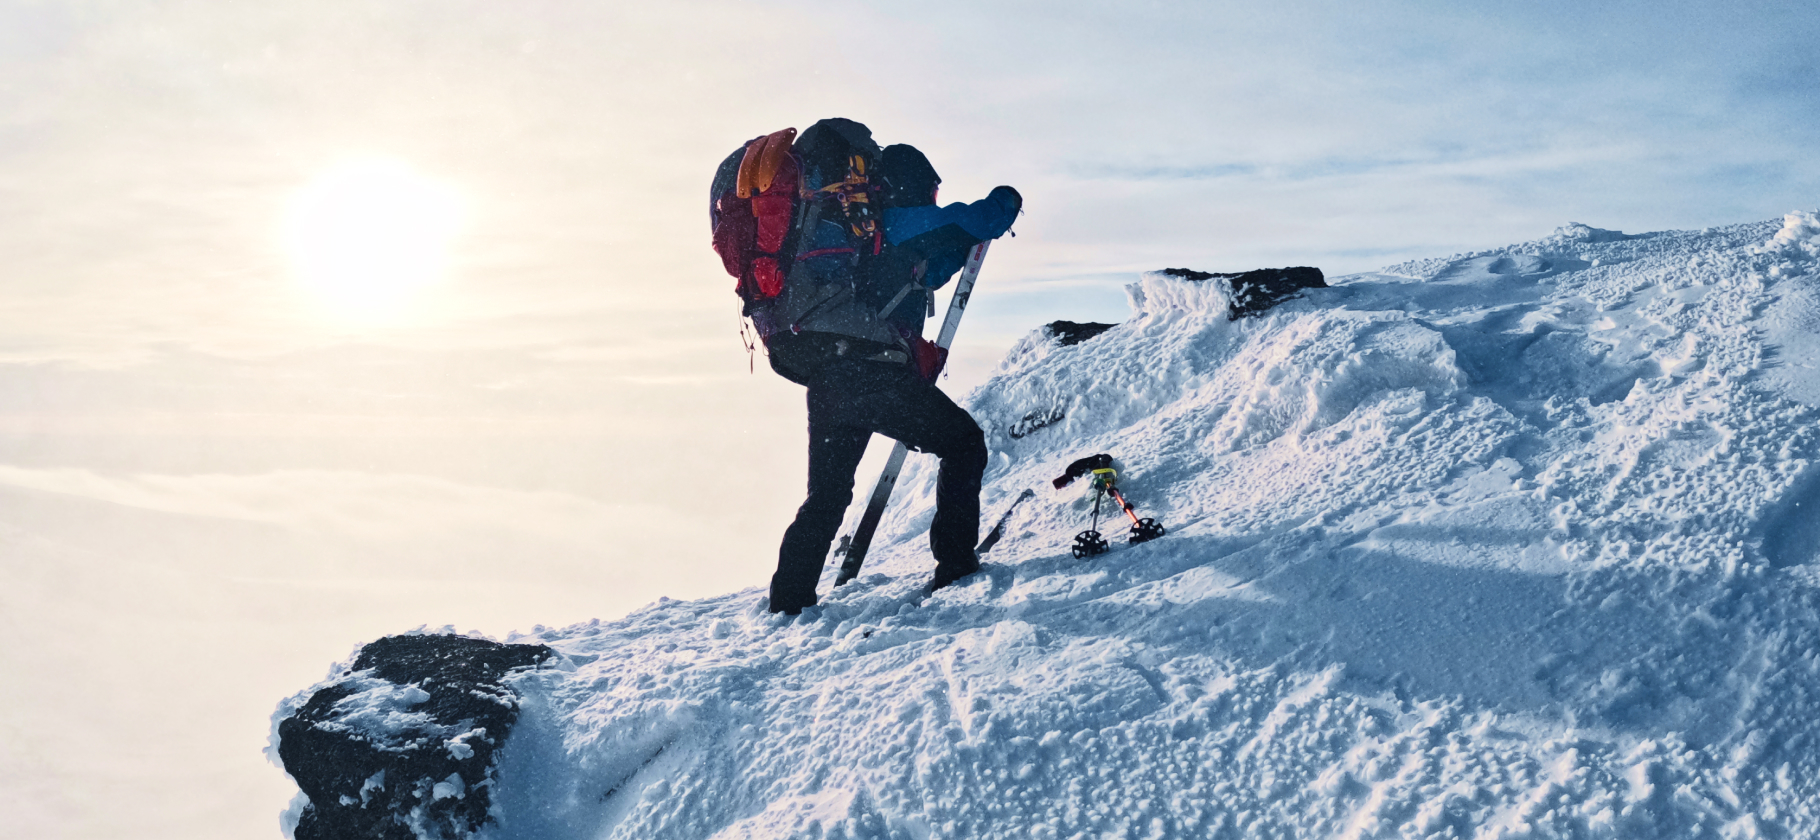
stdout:
<svg viewBox="0 0 1820 840">
<path fill-rule="evenodd" d="M 486 836 L 1820 836 L 1820 222 L 1334 282 L 1019 344 L 970 407 L 988 518 L 1037 496 L 963 585 L 917 456 L 799 618 L 519 638 Z M 1076 560 L 1099 451 L 1170 533 Z"/>
</svg>

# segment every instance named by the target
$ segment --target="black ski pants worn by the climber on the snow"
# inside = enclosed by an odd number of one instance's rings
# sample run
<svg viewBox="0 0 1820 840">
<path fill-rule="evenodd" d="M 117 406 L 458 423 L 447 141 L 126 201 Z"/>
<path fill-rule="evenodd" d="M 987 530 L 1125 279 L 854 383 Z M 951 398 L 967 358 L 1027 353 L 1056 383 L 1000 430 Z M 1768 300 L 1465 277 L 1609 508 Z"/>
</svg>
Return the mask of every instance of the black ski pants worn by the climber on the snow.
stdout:
<svg viewBox="0 0 1820 840">
<path fill-rule="evenodd" d="M 837 362 L 808 382 L 808 498 L 777 549 L 770 609 L 815 604 L 828 545 L 854 500 L 854 471 L 872 435 L 941 458 L 928 545 L 937 575 L 979 567 L 979 482 L 986 438 L 966 409 L 905 365 Z"/>
</svg>

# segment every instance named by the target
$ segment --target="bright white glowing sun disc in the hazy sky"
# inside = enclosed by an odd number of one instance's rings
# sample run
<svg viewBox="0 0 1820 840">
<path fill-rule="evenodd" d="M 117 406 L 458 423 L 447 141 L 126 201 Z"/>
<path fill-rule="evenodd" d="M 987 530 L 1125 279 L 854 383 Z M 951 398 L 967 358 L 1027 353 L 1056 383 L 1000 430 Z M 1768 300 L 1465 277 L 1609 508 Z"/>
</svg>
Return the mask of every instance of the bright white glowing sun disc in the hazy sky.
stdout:
<svg viewBox="0 0 1820 840">
<path fill-rule="evenodd" d="M 389 320 L 442 278 L 464 216 L 460 193 L 402 162 L 348 160 L 293 196 L 284 245 L 331 315 Z"/>
</svg>

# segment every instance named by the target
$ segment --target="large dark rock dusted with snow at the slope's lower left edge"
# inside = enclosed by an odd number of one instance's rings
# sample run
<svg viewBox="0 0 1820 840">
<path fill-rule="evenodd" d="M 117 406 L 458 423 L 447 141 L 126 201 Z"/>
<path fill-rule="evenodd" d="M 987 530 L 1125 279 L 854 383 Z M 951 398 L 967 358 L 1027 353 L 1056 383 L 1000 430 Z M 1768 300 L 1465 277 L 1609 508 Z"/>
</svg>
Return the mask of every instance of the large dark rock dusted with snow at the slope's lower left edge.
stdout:
<svg viewBox="0 0 1820 840">
<path fill-rule="evenodd" d="M 519 716 L 506 673 L 544 645 L 386 636 L 278 722 L 278 758 L 309 796 L 297 840 L 471 836 L 488 820 L 493 753 Z"/>
</svg>

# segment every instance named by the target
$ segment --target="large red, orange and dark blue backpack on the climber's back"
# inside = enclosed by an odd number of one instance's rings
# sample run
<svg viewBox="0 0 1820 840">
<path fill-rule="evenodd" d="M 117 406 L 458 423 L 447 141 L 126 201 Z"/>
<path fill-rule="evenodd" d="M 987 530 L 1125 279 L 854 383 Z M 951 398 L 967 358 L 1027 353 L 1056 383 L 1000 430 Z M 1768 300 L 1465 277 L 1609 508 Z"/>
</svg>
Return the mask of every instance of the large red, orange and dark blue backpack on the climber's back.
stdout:
<svg viewBox="0 0 1820 840">
<path fill-rule="evenodd" d="M 857 300 L 885 245 L 877 162 L 870 129 L 832 118 L 752 138 L 715 171 L 713 249 L 768 345 L 784 331 L 901 344 Z"/>
</svg>

